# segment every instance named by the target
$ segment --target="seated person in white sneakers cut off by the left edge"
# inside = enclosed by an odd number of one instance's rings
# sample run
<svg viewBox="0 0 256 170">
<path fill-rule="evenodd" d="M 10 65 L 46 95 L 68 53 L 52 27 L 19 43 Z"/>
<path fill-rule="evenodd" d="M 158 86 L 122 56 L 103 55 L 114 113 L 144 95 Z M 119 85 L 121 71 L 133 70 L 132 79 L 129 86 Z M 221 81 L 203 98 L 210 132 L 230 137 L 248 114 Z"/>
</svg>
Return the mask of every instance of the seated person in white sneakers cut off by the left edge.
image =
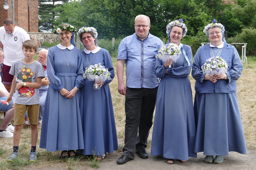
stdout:
<svg viewBox="0 0 256 170">
<path fill-rule="evenodd" d="M 3 49 L 0 48 L 0 64 L 3 63 L 4 59 Z M 1 79 L 1 78 L 0 78 Z M 0 80 L 0 100 L 6 100 L 9 92 L 4 88 L 3 83 Z M 14 117 L 14 100 L 12 100 L 9 105 L 5 105 L 0 102 L 0 111 L 6 112 L 3 122 L 0 126 L 0 137 L 3 138 L 12 138 L 14 132 L 14 126 L 10 124 L 11 120 Z"/>
</svg>

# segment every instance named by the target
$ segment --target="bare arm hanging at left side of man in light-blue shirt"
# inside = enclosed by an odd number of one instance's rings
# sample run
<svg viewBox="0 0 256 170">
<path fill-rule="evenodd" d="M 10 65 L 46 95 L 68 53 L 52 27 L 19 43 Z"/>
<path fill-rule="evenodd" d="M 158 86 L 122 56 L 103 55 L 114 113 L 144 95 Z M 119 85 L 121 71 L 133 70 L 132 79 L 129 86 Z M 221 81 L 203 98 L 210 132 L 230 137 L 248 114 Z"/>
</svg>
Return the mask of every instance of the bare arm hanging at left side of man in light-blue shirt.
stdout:
<svg viewBox="0 0 256 170">
<path fill-rule="evenodd" d="M 116 74 L 118 80 L 118 92 L 121 95 L 125 95 L 126 86 L 124 84 L 124 65 L 126 60 L 117 60 Z"/>
</svg>

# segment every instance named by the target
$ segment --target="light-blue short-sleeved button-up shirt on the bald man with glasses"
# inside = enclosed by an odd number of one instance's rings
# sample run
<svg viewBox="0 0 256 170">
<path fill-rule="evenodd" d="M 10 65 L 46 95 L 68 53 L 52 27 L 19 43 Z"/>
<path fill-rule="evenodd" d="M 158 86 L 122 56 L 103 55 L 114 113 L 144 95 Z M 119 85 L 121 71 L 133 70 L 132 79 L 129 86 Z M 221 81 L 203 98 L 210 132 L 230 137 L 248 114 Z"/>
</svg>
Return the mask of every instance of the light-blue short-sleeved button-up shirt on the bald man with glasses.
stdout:
<svg viewBox="0 0 256 170">
<path fill-rule="evenodd" d="M 163 45 L 152 35 L 141 40 L 136 33 L 125 37 L 119 47 L 117 60 L 126 60 L 126 86 L 130 88 L 155 88 L 158 80 L 154 74 L 156 53 Z"/>
</svg>

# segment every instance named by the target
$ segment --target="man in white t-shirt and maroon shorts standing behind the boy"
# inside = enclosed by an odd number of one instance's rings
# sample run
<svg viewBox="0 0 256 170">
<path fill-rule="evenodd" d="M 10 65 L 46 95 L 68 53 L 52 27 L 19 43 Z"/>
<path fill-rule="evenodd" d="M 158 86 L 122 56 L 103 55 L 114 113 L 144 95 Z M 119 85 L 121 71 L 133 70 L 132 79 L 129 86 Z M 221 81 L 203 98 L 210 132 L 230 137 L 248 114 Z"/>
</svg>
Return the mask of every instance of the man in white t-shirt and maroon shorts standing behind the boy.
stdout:
<svg viewBox="0 0 256 170">
<path fill-rule="evenodd" d="M 24 57 L 22 44 L 30 39 L 28 33 L 14 24 L 14 20 L 6 18 L 0 27 L 0 48 L 3 49 L 5 60 L 3 62 L 3 84 L 10 92 L 13 75 L 9 74 L 12 63 Z"/>
</svg>

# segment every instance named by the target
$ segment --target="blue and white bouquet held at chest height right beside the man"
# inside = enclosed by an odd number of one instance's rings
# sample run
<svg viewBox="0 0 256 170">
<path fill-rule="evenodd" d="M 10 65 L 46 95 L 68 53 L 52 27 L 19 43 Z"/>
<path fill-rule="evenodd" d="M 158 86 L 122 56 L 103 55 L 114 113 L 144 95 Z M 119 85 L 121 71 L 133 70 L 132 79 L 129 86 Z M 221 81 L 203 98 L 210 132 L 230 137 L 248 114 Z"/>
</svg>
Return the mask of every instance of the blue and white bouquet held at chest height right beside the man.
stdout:
<svg viewBox="0 0 256 170">
<path fill-rule="evenodd" d="M 161 48 L 157 51 L 156 58 L 159 58 L 161 61 L 166 62 L 167 60 L 172 60 L 176 62 L 180 58 L 181 49 L 179 46 L 173 43 L 168 43 L 162 45 Z"/>
</svg>

